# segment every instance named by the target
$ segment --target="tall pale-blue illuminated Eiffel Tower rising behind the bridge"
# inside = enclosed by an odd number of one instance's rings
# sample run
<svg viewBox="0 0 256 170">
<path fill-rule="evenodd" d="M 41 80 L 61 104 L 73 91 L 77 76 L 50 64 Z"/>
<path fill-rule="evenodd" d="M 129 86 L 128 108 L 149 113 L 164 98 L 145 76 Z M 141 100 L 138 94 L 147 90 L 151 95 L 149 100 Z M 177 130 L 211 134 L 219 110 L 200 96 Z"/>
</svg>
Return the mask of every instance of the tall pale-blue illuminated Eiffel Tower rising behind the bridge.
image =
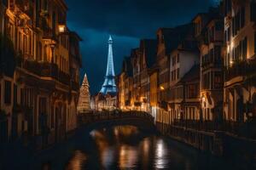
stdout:
<svg viewBox="0 0 256 170">
<path fill-rule="evenodd" d="M 100 94 L 107 95 L 115 95 L 117 93 L 117 88 L 114 81 L 114 70 L 113 70 L 113 48 L 112 48 L 113 40 L 112 37 L 109 36 L 108 39 L 108 64 L 105 81 L 102 85 L 102 89 Z"/>
</svg>

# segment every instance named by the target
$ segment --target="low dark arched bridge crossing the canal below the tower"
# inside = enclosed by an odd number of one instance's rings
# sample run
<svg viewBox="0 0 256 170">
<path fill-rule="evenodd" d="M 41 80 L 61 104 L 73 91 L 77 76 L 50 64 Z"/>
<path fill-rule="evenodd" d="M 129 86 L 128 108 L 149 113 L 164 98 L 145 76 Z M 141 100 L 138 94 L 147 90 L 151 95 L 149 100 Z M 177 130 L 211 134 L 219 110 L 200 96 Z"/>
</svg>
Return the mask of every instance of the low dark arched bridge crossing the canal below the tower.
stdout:
<svg viewBox="0 0 256 170">
<path fill-rule="evenodd" d="M 131 125 L 141 129 L 154 129 L 154 117 L 143 111 L 102 111 L 82 113 L 79 127 L 109 127 Z"/>
</svg>

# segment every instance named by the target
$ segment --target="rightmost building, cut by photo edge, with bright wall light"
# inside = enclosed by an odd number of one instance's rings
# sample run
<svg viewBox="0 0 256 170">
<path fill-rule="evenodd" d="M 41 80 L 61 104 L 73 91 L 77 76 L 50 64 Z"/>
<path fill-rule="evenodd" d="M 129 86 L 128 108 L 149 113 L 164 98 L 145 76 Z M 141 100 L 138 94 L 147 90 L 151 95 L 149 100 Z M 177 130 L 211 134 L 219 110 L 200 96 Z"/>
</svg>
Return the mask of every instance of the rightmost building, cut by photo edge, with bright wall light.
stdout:
<svg viewBox="0 0 256 170">
<path fill-rule="evenodd" d="M 224 120 L 256 115 L 256 3 L 224 0 Z"/>
</svg>

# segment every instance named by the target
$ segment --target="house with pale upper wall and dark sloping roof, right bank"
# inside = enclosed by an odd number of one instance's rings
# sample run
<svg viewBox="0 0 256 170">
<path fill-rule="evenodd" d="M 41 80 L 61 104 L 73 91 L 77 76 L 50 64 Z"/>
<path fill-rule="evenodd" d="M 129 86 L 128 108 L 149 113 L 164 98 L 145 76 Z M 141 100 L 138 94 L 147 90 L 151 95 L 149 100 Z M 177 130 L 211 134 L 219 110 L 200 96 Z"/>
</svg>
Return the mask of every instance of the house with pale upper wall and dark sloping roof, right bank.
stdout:
<svg viewBox="0 0 256 170">
<path fill-rule="evenodd" d="M 187 93 L 189 94 L 190 91 L 199 88 L 199 86 L 188 85 L 190 77 L 195 77 L 193 81 L 199 81 L 200 77 L 199 72 L 196 72 L 198 67 L 195 66 L 199 65 L 199 50 L 197 48 L 197 42 L 195 42 L 195 39 L 191 36 L 186 37 L 176 49 L 172 50 L 170 56 L 171 81 L 170 98 L 168 103 L 170 107 L 169 111 L 171 111 L 171 113 L 168 115 L 168 120 L 170 120 L 171 117 L 172 120 L 173 117 L 175 119 L 183 119 L 185 115 L 195 114 L 195 111 L 197 111 L 196 114 L 199 114 L 200 110 L 198 109 L 199 105 L 197 101 L 193 103 L 189 100 L 189 98 L 192 99 L 194 96 L 185 95 Z M 198 79 L 196 80 L 196 78 Z M 194 82 L 191 82 L 191 84 L 194 84 Z M 189 91 L 186 89 L 187 86 L 191 88 Z M 199 90 L 196 92 L 199 92 Z M 193 92 L 191 92 L 191 95 L 192 93 Z M 189 110 L 187 107 L 189 107 Z M 190 113 L 190 111 L 193 113 Z"/>
</svg>

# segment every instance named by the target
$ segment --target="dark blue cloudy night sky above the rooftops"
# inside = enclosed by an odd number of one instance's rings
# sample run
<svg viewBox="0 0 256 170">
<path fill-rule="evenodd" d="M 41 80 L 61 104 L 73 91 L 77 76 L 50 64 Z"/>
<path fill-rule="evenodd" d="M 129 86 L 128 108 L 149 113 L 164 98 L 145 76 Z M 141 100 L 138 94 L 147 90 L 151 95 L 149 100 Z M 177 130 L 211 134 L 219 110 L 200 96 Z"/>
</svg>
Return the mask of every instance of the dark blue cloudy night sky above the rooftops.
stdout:
<svg viewBox="0 0 256 170">
<path fill-rule="evenodd" d="M 113 36 L 113 62 L 119 74 L 124 56 L 137 48 L 139 39 L 155 38 L 159 27 L 172 27 L 192 20 L 217 0 L 66 0 L 67 25 L 77 31 L 81 42 L 83 68 L 90 93 L 96 94 L 103 83 L 108 36 Z"/>
</svg>

